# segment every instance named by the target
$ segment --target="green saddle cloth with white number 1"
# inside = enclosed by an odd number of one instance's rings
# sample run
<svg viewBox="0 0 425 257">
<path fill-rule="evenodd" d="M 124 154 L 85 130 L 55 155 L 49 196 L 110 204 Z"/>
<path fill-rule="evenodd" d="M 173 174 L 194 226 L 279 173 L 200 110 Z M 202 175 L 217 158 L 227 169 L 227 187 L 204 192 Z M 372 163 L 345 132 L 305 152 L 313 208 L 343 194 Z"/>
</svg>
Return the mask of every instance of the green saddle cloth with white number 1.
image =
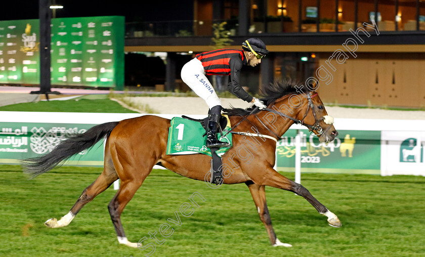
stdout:
<svg viewBox="0 0 425 257">
<path fill-rule="evenodd" d="M 223 135 L 230 131 L 231 125 L 227 115 L 223 115 L 227 118 L 227 125 L 223 131 Z M 171 126 L 168 130 L 168 141 L 167 141 L 167 154 L 194 154 L 203 153 L 211 156 L 211 151 L 206 148 L 206 136 L 205 129 L 202 127 L 200 122 L 192 121 L 180 117 L 174 117 L 171 119 Z M 221 138 L 221 134 L 217 134 L 217 138 L 222 142 L 229 142 L 228 147 L 220 148 L 216 153 L 221 156 L 230 147 L 232 147 L 232 134 L 229 133 L 226 137 Z"/>
</svg>

